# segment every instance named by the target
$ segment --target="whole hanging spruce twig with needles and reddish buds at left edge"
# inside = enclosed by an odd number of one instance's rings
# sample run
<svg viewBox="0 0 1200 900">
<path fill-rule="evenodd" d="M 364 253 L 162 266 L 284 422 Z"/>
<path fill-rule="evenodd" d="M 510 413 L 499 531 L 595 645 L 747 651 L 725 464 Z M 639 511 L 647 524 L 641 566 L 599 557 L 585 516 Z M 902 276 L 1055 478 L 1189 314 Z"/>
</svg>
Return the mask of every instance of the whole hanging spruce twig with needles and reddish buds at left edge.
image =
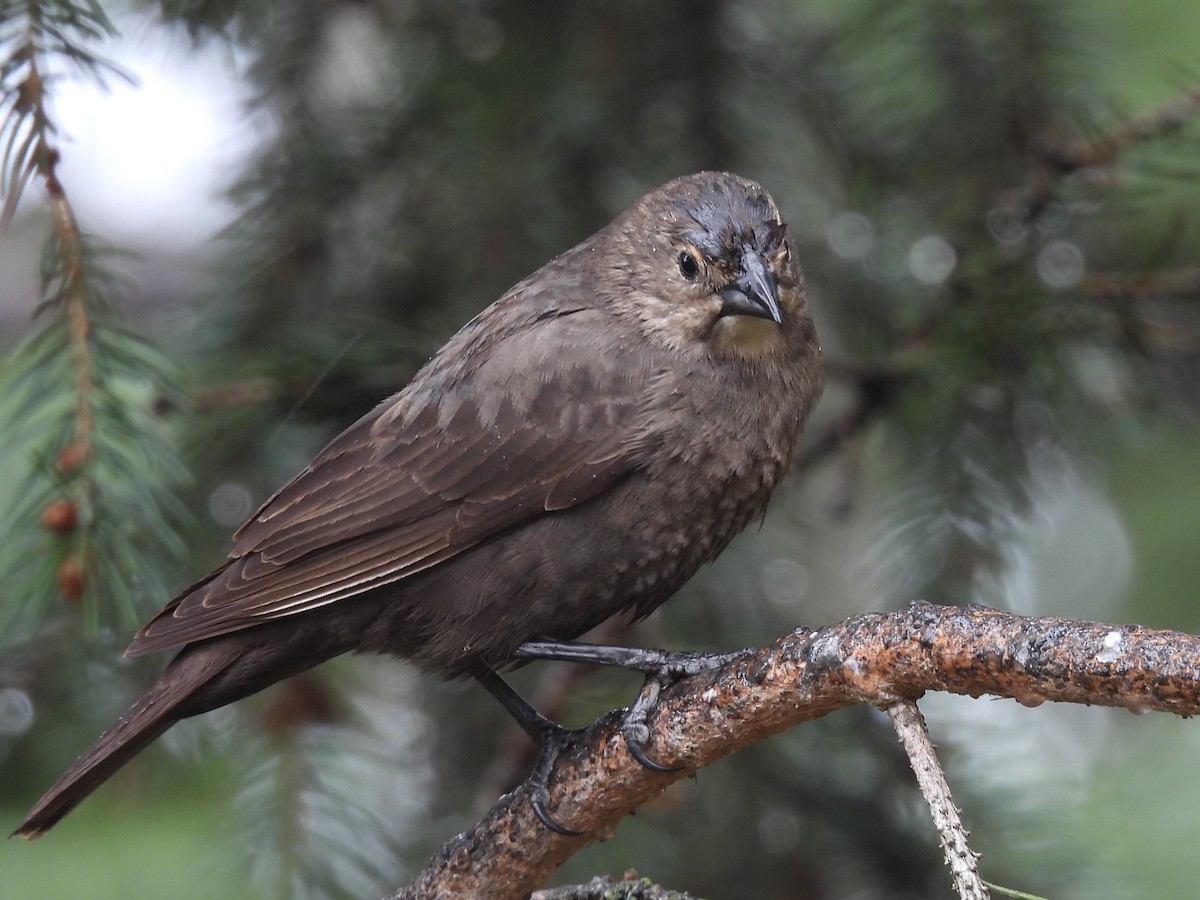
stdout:
<svg viewBox="0 0 1200 900">
<path fill-rule="evenodd" d="M 46 187 L 52 224 L 34 310 L 43 324 L 0 370 L 10 510 L 0 526 L 0 624 L 6 640 L 36 630 L 55 618 L 58 596 L 80 604 L 89 634 L 125 630 L 145 616 L 148 598 L 161 598 L 164 566 L 182 550 L 174 496 L 186 472 L 154 412 L 169 394 L 169 366 L 116 324 L 118 254 L 76 221 L 47 106 L 48 72 L 115 71 L 96 52 L 115 31 L 94 2 L 6 4 L 0 20 L 0 224 L 32 178 Z"/>
</svg>

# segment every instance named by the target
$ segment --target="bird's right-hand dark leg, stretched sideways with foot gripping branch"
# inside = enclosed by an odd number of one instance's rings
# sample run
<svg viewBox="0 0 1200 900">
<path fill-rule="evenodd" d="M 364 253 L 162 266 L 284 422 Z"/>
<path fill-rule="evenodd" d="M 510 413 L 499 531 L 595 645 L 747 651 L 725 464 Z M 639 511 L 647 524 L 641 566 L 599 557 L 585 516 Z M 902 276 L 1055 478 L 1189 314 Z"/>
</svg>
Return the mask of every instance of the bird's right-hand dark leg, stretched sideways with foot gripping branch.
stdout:
<svg viewBox="0 0 1200 900">
<path fill-rule="evenodd" d="M 745 650 L 733 653 L 698 653 L 696 650 L 655 650 L 638 647 L 604 647 L 590 643 L 569 641 L 526 641 L 517 648 L 516 655 L 522 659 L 550 659 L 563 662 L 592 662 L 601 666 L 619 666 L 646 674 L 646 683 L 637 695 L 634 706 L 625 713 L 622 734 L 630 756 L 653 772 L 676 772 L 679 766 L 664 766 L 646 755 L 644 745 L 649 740 L 649 715 L 659 702 L 664 688 L 674 684 L 680 678 L 710 672 L 714 668 L 732 662 L 744 655 Z M 522 701 L 524 702 L 524 701 Z M 536 714 L 536 710 L 534 710 Z"/>
</svg>

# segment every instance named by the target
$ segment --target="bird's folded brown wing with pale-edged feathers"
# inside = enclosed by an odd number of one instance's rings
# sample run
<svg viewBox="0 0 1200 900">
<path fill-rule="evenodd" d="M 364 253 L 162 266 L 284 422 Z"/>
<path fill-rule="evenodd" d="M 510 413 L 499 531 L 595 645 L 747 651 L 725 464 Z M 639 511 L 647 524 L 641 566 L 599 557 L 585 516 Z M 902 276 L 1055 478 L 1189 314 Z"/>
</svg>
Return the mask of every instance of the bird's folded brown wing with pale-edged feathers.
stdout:
<svg viewBox="0 0 1200 900">
<path fill-rule="evenodd" d="M 599 316 L 544 313 L 499 340 L 476 319 L 269 499 L 229 562 L 126 654 L 344 600 L 611 487 L 637 464 L 644 372 L 596 352 Z"/>
</svg>

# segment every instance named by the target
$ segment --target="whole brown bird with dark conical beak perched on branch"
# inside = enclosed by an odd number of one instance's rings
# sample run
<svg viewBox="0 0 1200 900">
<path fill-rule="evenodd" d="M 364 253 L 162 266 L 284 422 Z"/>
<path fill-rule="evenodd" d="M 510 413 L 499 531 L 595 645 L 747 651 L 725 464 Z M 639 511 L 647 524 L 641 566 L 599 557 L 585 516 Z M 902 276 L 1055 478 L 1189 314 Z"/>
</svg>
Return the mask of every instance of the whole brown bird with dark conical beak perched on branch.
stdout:
<svg viewBox="0 0 1200 900">
<path fill-rule="evenodd" d="M 564 730 L 499 673 L 578 658 L 656 689 L 702 667 L 575 638 L 649 614 L 764 515 L 821 383 L 767 191 L 720 172 L 649 191 L 468 322 L 142 626 L 126 655 L 175 656 L 13 834 L 44 833 L 180 719 L 349 652 L 481 682 L 550 748 L 534 809 L 574 834 L 545 811 Z M 652 767 L 654 697 L 625 731 Z"/>
</svg>

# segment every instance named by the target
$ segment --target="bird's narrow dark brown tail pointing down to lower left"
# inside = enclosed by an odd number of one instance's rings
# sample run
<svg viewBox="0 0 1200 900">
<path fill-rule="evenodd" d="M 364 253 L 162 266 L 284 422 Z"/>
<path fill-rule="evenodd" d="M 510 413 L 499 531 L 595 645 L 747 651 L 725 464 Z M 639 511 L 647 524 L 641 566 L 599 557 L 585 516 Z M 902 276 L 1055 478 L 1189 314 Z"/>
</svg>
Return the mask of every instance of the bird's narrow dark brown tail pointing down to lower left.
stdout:
<svg viewBox="0 0 1200 900">
<path fill-rule="evenodd" d="M 203 656 L 205 654 L 198 654 Z M 175 724 L 179 704 L 215 674 L 214 660 L 178 656 L 158 680 L 42 794 L 13 832 L 29 840 L 41 836 L 73 810 L 119 768 Z M 199 665 L 196 665 L 199 664 Z"/>
</svg>

